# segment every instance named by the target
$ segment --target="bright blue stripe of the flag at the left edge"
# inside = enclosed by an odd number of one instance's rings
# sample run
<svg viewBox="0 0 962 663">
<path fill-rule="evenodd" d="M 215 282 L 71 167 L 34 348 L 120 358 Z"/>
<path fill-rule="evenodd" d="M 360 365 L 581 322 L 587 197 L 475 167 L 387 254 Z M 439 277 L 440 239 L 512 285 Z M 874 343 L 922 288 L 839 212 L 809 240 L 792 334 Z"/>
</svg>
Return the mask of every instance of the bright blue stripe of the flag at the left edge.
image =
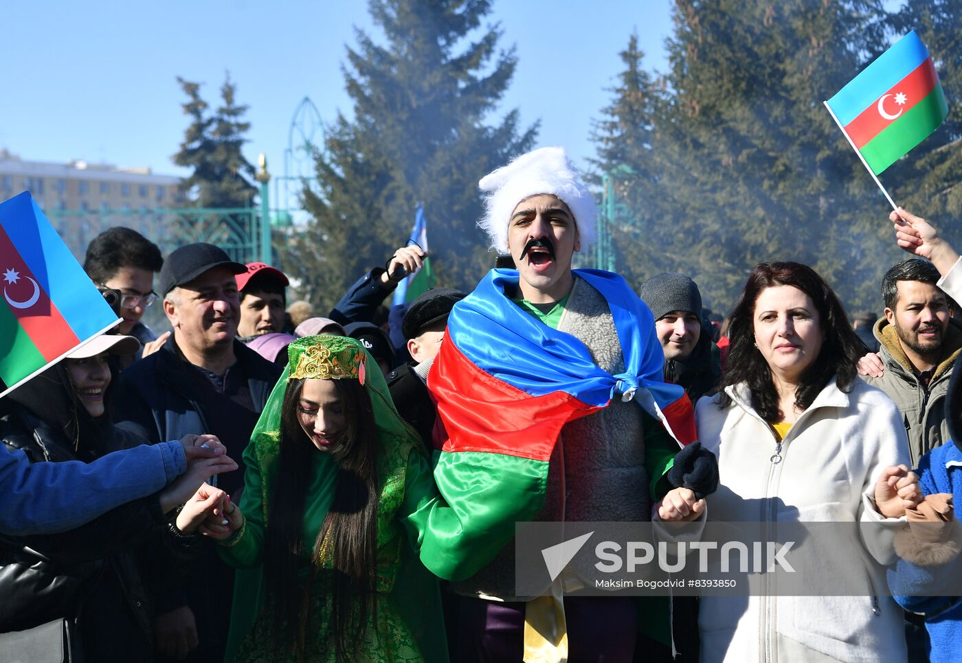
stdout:
<svg viewBox="0 0 962 663">
<path fill-rule="evenodd" d="M 0 225 L 78 338 L 86 340 L 116 321 L 110 305 L 30 193 L 0 205 Z"/>
</svg>

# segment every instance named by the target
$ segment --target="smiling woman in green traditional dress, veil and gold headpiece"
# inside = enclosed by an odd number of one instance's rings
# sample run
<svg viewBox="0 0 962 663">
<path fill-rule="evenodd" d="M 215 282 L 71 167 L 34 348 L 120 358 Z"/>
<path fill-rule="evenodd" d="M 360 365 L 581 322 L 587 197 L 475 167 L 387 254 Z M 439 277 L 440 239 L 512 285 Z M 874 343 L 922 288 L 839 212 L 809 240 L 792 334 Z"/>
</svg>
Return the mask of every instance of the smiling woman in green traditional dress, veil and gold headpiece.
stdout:
<svg viewBox="0 0 962 663">
<path fill-rule="evenodd" d="M 414 522 L 437 492 L 418 434 L 358 341 L 291 344 L 243 458 L 240 507 L 226 503 L 206 528 L 225 561 L 253 570 L 238 574 L 228 660 L 446 659 Z"/>
</svg>

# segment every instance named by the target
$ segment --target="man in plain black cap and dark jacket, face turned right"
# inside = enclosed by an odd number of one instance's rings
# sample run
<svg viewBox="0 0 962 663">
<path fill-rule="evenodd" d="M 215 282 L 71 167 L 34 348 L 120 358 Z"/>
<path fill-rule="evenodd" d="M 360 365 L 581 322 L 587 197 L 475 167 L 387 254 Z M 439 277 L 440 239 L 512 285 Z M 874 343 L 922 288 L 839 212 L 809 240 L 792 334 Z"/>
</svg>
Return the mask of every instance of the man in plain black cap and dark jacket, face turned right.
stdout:
<svg viewBox="0 0 962 663">
<path fill-rule="evenodd" d="M 160 292 L 173 337 L 161 351 L 122 375 L 119 425 L 151 442 L 211 432 L 240 458 L 281 369 L 235 337 L 240 301 L 235 275 L 246 272 L 212 244 L 171 253 Z M 218 487 L 237 495 L 242 470 L 221 475 Z M 157 643 L 167 656 L 210 661 L 223 657 L 230 621 L 233 571 L 206 550 L 188 580 L 159 598 Z"/>
</svg>

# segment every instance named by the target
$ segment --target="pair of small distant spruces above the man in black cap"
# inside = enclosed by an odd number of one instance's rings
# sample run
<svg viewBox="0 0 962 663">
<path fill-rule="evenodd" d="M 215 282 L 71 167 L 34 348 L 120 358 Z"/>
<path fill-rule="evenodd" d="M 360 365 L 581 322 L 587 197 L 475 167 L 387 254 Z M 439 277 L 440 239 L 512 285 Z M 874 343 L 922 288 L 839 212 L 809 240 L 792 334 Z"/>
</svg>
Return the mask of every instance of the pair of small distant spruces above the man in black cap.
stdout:
<svg viewBox="0 0 962 663">
<path fill-rule="evenodd" d="M 183 104 L 190 125 L 173 161 L 191 169 L 181 187 L 201 208 L 244 208 L 254 203 L 258 189 L 252 184 L 254 166 L 241 152 L 250 123 L 243 120 L 247 106 L 237 104 L 230 74 L 220 87 L 221 105 L 211 112 L 200 96 L 200 84 L 178 77 L 188 96 Z"/>
</svg>

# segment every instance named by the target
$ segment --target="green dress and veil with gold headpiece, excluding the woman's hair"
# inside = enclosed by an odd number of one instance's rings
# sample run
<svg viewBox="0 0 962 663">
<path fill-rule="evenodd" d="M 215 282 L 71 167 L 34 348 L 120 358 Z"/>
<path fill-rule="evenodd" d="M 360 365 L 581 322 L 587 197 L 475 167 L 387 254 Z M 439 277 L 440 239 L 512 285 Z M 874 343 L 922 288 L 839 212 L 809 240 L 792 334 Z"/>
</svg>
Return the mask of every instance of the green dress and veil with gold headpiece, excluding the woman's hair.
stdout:
<svg viewBox="0 0 962 663">
<path fill-rule="evenodd" d="M 417 433 L 397 415 L 377 364 L 356 341 L 342 336 L 308 337 L 291 344 L 291 364 L 271 393 L 251 443 L 244 451 L 246 473 L 241 511 L 245 521 L 232 538 L 218 546 L 220 556 L 239 569 L 225 660 L 251 663 L 335 660 L 334 633 L 329 626 L 333 573 L 330 555 L 321 551 L 304 558 L 300 576 L 305 597 L 298 626 L 303 643 L 300 657 L 291 643 L 274 641 L 273 614 L 261 569 L 272 486 L 282 480 L 275 471 L 280 407 L 297 362 L 304 361 L 301 356 L 305 351 L 318 344 L 332 350 L 335 357 L 340 353 L 342 363 L 345 350 L 356 353 L 360 349 L 365 353 L 367 360 L 363 363 L 367 370 L 362 367 L 361 376 L 371 399 L 381 452 L 377 459 L 381 491 L 377 510 L 375 609 L 368 615 L 367 629 L 358 643 L 354 660 L 446 661 L 437 578 L 423 567 L 417 552 L 426 527 L 425 513 L 438 500 L 431 469 Z M 312 462 L 312 479 L 302 520 L 303 540 L 310 542 L 305 546 L 309 553 L 313 553 L 312 544 L 333 500 L 338 475 L 337 461 L 328 454 L 313 454 Z"/>
</svg>

